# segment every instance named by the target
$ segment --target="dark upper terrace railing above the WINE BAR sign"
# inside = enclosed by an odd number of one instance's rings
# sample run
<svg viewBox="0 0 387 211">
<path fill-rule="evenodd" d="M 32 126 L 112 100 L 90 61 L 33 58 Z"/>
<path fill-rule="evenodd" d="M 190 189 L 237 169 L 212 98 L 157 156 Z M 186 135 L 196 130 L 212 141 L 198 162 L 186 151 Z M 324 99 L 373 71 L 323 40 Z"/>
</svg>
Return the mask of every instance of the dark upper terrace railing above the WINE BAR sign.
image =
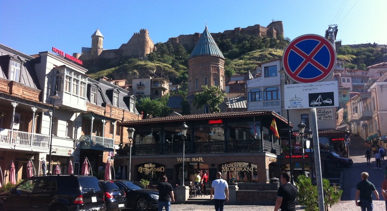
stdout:
<svg viewBox="0 0 387 211">
<path fill-rule="evenodd" d="M 230 153 L 244 153 L 244 152 L 260 152 L 261 141 L 260 140 L 243 140 L 243 141 L 229 141 L 227 142 L 228 151 Z M 210 141 L 210 142 L 195 142 L 193 144 L 185 143 L 185 153 L 224 153 L 226 152 L 225 142 L 223 141 Z M 263 150 L 272 152 L 275 150 L 276 154 L 280 153 L 280 147 L 278 144 L 273 144 L 271 148 L 271 142 L 263 141 Z M 129 152 L 129 149 L 127 149 Z M 156 155 L 156 154 L 176 154 L 183 152 L 183 143 L 167 143 L 164 145 L 159 144 L 137 144 L 132 148 L 132 154 L 135 155 Z M 126 153 L 123 153 L 126 155 Z"/>
</svg>

